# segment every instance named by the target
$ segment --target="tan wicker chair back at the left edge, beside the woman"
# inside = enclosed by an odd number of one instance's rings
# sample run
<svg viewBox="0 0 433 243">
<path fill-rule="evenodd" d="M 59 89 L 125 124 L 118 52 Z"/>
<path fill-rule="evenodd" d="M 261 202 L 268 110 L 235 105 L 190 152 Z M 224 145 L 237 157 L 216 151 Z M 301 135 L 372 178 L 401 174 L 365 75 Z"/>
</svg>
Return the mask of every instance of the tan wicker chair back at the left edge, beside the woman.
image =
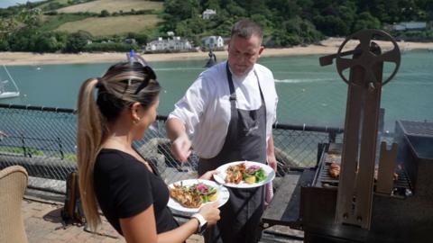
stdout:
<svg viewBox="0 0 433 243">
<path fill-rule="evenodd" d="M 0 243 L 28 242 L 21 212 L 27 182 L 23 166 L 8 166 L 0 171 Z"/>
</svg>

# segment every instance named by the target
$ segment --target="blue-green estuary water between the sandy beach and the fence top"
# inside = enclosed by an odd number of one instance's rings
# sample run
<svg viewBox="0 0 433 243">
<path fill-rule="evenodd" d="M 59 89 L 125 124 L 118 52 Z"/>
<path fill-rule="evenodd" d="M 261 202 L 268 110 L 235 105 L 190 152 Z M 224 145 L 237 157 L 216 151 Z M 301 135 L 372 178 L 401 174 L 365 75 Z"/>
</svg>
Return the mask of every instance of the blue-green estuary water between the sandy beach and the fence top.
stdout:
<svg viewBox="0 0 433 243">
<path fill-rule="evenodd" d="M 145 58 L 145 57 L 144 57 Z M 319 56 L 260 58 L 269 67 L 279 94 L 278 122 L 344 127 L 347 85 L 335 65 L 320 67 Z M 159 113 L 167 115 L 198 74 L 202 60 L 152 62 L 163 90 Z M 102 76 L 111 63 L 11 66 L 9 72 L 21 96 L 0 103 L 30 104 L 76 109 L 78 88 L 88 77 Z M 384 67 L 384 78 L 393 66 Z M 0 73 L 0 77 L 4 77 Z M 345 74 L 346 75 L 346 74 Z M 433 121 L 433 52 L 409 51 L 401 56 L 401 67 L 382 88 L 385 129 L 396 120 Z"/>
</svg>

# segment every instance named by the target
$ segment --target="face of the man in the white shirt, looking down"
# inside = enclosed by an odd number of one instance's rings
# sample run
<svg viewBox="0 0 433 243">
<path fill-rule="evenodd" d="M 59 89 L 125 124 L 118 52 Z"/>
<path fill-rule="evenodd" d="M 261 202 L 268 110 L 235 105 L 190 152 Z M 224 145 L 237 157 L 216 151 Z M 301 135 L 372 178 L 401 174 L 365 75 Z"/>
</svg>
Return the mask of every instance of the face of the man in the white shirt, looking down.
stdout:
<svg viewBox="0 0 433 243">
<path fill-rule="evenodd" d="M 243 76 L 249 71 L 262 54 L 263 46 L 258 36 L 249 39 L 234 36 L 228 43 L 228 64 L 236 76 Z"/>
</svg>

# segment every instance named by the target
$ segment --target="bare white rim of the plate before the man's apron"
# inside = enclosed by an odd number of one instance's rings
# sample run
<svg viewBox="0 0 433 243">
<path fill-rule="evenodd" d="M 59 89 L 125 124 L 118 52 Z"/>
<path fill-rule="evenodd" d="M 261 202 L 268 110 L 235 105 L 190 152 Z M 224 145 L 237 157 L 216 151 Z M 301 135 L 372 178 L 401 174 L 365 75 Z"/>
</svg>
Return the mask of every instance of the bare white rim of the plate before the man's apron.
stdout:
<svg viewBox="0 0 433 243">
<path fill-rule="evenodd" d="M 226 169 L 228 166 L 235 166 L 237 164 L 241 164 L 241 163 L 245 163 L 246 167 L 249 166 L 261 166 L 264 170 L 264 173 L 266 174 L 266 179 L 264 181 L 261 181 L 259 183 L 253 183 L 253 184 L 247 184 L 244 181 L 241 181 L 239 184 L 235 184 L 235 183 L 226 183 Z M 228 163 L 226 165 L 222 165 L 217 167 L 217 171 L 219 172 L 218 174 L 214 174 L 214 179 L 217 181 L 217 183 L 219 184 L 224 184 L 228 187 L 235 187 L 235 188 L 253 188 L 253 187 L 258 187 L 261 186 L 263 184 L 268 184 L 269 182 L 271 182 L 273 180 L 273 178 L 275 178 L 275 171 L 273 171 L 271 166 L 267 166 L 264 165 L 262 163 L 259 162 L 253 162 L 253 161 L 235 161 L 232 163 Z"/>
</svg>

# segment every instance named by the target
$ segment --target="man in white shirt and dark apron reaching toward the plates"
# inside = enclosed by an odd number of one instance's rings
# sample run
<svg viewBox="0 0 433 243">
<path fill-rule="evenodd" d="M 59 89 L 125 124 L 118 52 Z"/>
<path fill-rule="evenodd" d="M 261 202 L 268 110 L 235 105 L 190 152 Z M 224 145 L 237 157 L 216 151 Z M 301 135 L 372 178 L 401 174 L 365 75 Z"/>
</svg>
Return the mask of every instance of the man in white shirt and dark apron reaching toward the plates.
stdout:
<svg viewBox="0 0 433 243">
<path fill-rule="evenodd" d="M 201 73 L 169 115 L 166 127 L 173 155 L 186 161 L 194 148 L 200 157 L 199 175 L 240 160 L 276 169 L 272 123 L 278 96 L 272 72 L 256 63 L 264 49 L 262 40 L 257 23 L 235 23 L 227 61 Z M 207 230 L 205 242 L 258 242 L 264 186 L 229 191 L 221 220 Z"/>
</svg>

